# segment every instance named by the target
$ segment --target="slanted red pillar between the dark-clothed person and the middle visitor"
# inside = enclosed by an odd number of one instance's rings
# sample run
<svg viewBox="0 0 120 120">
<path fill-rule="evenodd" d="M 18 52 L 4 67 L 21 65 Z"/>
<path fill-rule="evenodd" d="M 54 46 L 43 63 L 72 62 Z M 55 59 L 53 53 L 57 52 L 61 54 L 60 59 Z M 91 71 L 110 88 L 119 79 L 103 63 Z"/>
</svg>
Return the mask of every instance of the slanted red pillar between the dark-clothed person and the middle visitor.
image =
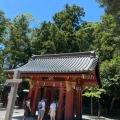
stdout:
<svg viewBox="0 0 120 120">
<path fill-rule="evenodd" d="M 36 88 L 35 88 L 35 94 L 34 94 L 34 96 L 33 96 L 32 109 L 31 109 L 32 115 L 35 115 L 35 112 L 36 112 L 36 107 L 37 107 L 37 104 L 38 104 L 38 96 L 39 96 L 39 93 L 40 93 L 39 87 L 36 87 Z"/>
</svg>

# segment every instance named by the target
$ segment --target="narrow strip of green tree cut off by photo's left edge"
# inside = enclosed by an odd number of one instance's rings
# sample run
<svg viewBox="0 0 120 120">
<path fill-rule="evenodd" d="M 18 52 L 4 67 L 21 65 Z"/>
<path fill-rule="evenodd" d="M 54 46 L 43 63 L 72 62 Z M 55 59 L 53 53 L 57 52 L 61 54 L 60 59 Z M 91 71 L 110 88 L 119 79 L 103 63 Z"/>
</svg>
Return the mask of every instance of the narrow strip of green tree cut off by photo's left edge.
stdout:
<svg viewBox="0 0 120 120">
<path fill-rule="evenodd" d="M 4 12 L 0 10 L 0 99 L 1 99 L 1 93 L 3 90 L 4 82 L 6 79 L 6 74 L 4 73 L 5 70 L 5 51 L 4 51 L 4 44 L 6 40 L 6 28 L 8 25 L 9 20 L 4 16 Z"/>
</svg>

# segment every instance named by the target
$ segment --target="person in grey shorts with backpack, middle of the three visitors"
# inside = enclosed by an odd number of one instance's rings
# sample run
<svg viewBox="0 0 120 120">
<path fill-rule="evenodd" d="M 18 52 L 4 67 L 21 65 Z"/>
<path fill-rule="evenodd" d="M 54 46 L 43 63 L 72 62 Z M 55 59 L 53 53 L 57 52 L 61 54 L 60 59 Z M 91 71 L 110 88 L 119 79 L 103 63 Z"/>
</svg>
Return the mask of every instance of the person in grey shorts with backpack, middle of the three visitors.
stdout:
<svg viewBox="0 0 120 120">
<path fill-rule="evenodd" d="M 46 99 L 42 99 L 38 102 L 38 120 L 42 120 L 45 114 L 45 102 Z"/>
</svg>

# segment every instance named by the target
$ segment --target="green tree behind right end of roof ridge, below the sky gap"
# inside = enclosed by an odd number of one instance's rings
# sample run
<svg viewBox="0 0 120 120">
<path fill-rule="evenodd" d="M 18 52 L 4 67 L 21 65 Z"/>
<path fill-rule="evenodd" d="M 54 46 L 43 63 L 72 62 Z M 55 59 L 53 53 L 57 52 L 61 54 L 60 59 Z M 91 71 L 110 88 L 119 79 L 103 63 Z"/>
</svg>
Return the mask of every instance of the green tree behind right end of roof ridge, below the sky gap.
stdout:
<svg viewBox="0 0 120 120">
<path fill-rule="evenodd" d="M 94 31 L 97 25 L 98 23 L 84 21 L 78 32 L 76 32 L 77 46 L 80 51 L 90 51 L 94 49 Z M 95 49 L 97 49 L 97 47 Z"/>
</svg>

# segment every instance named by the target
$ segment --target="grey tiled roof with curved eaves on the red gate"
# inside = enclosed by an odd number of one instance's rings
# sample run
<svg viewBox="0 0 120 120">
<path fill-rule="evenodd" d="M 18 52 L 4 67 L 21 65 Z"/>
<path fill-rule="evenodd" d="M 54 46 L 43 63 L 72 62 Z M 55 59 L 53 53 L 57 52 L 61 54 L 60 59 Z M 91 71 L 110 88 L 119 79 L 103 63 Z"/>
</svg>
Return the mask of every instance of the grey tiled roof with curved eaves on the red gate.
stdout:
<svg viewBox="0 0 120 120">
<path fill-rule="evenodd" d="M 33 55 L 31 61 L 17 68 L 21 73 L 90 73 L 98 63 L 94 51 Z M 8 70 L 8 73 L 14 72 Z"/>
</svg>

